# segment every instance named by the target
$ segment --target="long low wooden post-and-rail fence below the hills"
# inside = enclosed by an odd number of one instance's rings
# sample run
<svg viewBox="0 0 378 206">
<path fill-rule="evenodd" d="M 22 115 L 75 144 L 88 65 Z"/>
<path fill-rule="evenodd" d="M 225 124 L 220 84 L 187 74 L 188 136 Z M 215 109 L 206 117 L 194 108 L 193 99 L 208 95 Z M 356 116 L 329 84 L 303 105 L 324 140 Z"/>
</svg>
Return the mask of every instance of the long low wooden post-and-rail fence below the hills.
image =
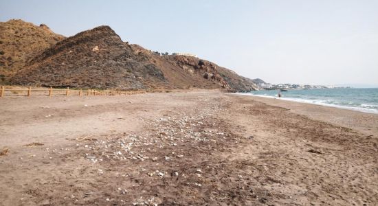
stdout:
<svg viewBox="0 0 378 206">
<path fill-rule="evenodd" d="M 11 91 L 15 93 L 26 91 L 25 96 L 27 97 L 30 97 L 32 93 L 34 93 L 35 91 L 40 92 L 38 93 L 38 95 L 41 95 L 41 92 L 43 93 L 45 91 L 46 95 L 49 97 L 53 96 L 54 94 L 57 94 L 56 91 L 58 91 L 60 95 L 62 95 L 62 92 L 63 92 L 63 95 L 66 95 L 66 96 L 69 96 L 69 95 L 109 96 L 109 95 L 131 95 L 131 94 L 136 94 L 136 93 L 146 93 L 146 91 L 144 90 L 143 91 L 142 90 L 139 90 L 139 91 L 116 91 L 116 90 L 100 91 L 96 89 L 87 89 L 87 90 L 69 89 L 69 87 L 67 87 L 67 89 L 53 89 L 52 87 L 50 87 L 49 89 L 32 89 L 32 87 L 28 87 L 27 89 L 5 89 L 5 87 L 2 86 L 0 89 L 0 98 L 5 96 L 5 91 Z"/>
</svg>

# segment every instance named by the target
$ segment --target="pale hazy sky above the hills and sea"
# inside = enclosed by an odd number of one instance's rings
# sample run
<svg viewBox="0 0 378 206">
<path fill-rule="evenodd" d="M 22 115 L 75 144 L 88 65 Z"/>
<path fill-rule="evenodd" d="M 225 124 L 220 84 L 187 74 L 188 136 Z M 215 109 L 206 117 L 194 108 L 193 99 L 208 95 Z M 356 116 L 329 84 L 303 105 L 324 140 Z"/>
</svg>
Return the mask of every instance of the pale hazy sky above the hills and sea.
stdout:
<svg viewBox="0 0 378 206">
<path fill-rule="evenodd" d="M 189 52 L 271 83 L 378 85 L 378 1 L 4 1 L 0 21 Z M 0 31 L 1 32 L 1 31 Z"/>
</svg>

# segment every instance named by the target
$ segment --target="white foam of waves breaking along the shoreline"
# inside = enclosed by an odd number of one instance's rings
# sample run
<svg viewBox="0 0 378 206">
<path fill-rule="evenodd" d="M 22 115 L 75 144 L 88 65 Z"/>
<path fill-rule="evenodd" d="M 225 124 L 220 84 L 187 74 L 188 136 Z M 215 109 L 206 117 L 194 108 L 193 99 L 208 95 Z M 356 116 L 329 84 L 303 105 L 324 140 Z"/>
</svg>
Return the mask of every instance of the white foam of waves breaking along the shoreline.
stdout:
<svg viewBox="0 0 378 206">
<path fill-rule="evenodd" d="M 252 95 L 252 96 L 261 97 L 261 98 L 277 99 L 276 97 L 273 97 L 273 96 L 254 95 L 252 93 L 235 93 L 235 94 L 237 94 L 237 95 Z M 353 110 L 353 111 L 360 111 L 360 112 L 363 112 L 363 113 L 378 114 L 377 109 L 368 108 L 369 106 L 375 106 L 375 105 L 370 105 L 370 104 L 361 104 L 362 107 L 355 107 L 355 106 L 342 106 L 342 105 L 337 105 L 337 104 L 324 103 L 324 102 L 327 102 L 326 100 L 304 100 L 304 99 L 295 99 L 295 98 L 281 98 L 281 100 L 286 100 L 286 101 L 290 101 L 290 102 L 315 104 L 315 105 L 320 105 L 320 106 L 329 106 L 329 107 L 335 107 L 335 108 L 343 108 L 343 109 L 348 109 L 348 110 Z"/>
</svg>

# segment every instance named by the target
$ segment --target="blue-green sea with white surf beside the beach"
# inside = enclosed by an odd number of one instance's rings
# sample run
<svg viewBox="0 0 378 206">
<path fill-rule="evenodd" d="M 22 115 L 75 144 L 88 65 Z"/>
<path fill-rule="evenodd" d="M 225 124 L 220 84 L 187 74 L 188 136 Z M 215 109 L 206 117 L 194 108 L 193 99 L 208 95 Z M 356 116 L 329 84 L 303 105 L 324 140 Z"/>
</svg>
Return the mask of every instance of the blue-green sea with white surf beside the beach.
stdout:
<svg viewBox="0 0 378 206">
<path fill-rule="evenodd" d="M 279 90 L 260 90 L 242 94 L 278 98 L 278 92 Z M 281 100 L 378 114 L 378 88 L 295 89 L 280 93 Z"/>
</svg>

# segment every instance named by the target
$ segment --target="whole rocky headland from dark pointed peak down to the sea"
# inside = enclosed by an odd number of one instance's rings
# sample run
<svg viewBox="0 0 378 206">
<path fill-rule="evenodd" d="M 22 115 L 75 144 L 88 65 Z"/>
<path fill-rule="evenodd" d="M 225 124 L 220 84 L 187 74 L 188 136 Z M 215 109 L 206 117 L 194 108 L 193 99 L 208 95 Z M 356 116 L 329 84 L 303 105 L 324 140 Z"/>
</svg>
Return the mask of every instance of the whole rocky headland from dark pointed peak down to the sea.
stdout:
<svg viewBox="0 0 378 206">
<path fill-rule="evenodd" d="M 65 38 L 34 56 L 12 84 L 99 89 L 203 89 L 249 91 L 256 84 L 192 56 L 160 56 L 122 42 L 108 26 Z"/>
</svg>

